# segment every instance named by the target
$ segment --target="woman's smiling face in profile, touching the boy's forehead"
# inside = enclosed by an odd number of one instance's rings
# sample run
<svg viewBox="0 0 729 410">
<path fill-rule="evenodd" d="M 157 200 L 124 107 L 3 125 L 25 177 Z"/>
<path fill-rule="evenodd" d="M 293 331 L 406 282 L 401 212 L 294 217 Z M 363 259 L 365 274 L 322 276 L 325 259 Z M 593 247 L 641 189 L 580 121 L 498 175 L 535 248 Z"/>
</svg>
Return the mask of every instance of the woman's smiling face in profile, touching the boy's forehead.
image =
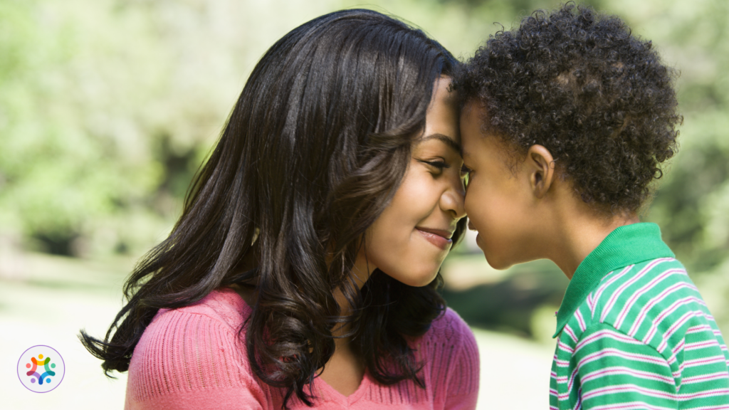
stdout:
<svg viewBox="0 0 729 410">
<path fill-rule="evenodd" d="M 358 268 L 366 257 L 364 269 L 379 268 L 405 285 L 432 282 L 451 250 L 456 223 L 466 216 L 459 112 L 448 93 L 450 83 L 448 77 L 436 81 L 408 171 L 391 203 L 368 228 L 358 258 Z"/>
</svg>

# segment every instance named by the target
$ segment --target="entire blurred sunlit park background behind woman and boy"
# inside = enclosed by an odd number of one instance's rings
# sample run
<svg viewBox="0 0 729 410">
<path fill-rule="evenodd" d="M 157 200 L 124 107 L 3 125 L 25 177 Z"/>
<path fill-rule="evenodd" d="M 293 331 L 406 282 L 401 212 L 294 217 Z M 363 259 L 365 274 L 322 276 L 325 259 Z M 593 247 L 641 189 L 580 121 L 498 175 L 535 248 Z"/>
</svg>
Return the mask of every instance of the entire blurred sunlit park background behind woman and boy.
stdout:
<svg viewBox="0 0 729 410">
<path fill-rule="evenodd" d="M 3 409 L 121 409 L 75 339 L 103 336 L 135 260 L 163 239 L 257 59 L 306 20 L 390 12 L 468 58 L 545 0 L 0 0 L 0 397 Z M 681 150 L 644 220 L 689 268 L 729 334 L 729 3 L 593 0 L 652 39 L 681 72 Z M 448 303 L 477 333 L 480 409 L 547 406 L 566 279 L 538 261 L 489 268 L 468 244 L 444 266 Z M 34 344 L 58 349 L 63 384 L 15 375 Z M 507 356 L 513 355 L 513 360 Z"/>
</svg>

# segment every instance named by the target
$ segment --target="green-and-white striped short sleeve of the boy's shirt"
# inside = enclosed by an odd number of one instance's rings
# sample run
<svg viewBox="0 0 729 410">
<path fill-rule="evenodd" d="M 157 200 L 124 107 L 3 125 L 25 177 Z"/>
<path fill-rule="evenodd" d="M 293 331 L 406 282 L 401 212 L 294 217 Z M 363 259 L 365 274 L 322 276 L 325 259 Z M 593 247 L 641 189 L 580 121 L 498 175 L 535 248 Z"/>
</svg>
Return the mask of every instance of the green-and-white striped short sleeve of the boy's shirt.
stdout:
<svg viewBox="0 0 729 410">
<path fill-rule="evenodd" d="M 598 323 L 582 333 L 573 355 L 577 408 L 677 409 L 671 366 L 653 347 L 611 325 Z"/>
</svg>

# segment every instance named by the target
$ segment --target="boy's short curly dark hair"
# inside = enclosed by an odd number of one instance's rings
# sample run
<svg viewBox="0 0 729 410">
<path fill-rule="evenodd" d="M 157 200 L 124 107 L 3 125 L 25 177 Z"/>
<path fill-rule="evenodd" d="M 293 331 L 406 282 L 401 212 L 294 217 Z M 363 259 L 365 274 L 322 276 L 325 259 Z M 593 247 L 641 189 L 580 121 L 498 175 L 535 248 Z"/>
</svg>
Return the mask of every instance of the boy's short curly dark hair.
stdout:
<svg viewBox="0 0 729 410">
<path fill-rule="evenodd" d="M 453 88 L 486 109 L 483 132 L 541 144 L 588 204 L 639 212 L 677 151 L 676 71 L 620 18 L 570 2 L 480 47 Z"/>
</svg>

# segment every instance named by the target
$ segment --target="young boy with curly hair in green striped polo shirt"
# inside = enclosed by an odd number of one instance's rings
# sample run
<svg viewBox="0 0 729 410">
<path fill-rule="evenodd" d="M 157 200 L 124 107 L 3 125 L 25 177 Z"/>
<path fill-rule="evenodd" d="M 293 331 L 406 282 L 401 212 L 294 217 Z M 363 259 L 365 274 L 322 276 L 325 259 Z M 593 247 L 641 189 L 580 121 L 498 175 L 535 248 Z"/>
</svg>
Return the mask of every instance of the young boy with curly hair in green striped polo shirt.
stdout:
<svg viewBox="0 0 729 410">
<path fill-rule="evenodd" d="M 619 18 L 567 4 L 477 51 L 454 88 L 466 211 L 494 268 L 553 260 L 550 409 L 729 409 L 729 354 L 638 215 L 677 150 L 674 71 Z"/>
</svg>

